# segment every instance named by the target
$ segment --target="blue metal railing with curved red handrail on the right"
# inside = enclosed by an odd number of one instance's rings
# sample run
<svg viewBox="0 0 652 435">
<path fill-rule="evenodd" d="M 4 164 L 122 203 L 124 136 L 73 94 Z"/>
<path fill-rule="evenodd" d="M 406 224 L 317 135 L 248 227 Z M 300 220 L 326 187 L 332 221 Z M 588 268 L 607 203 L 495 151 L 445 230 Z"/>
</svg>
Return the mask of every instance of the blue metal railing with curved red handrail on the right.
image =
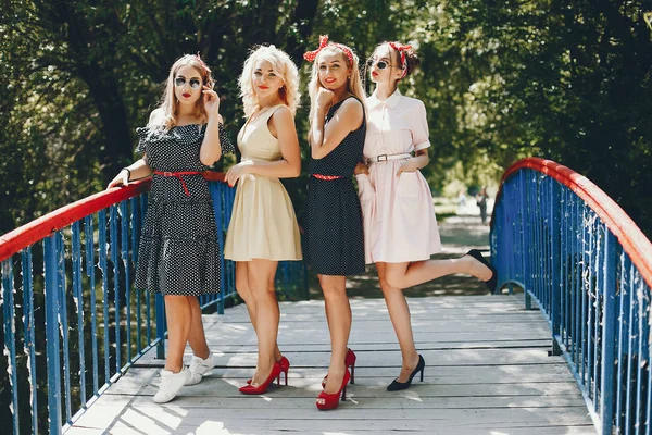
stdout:
<svg viewBox="0 0 652 435">
<path fill-rule="evenodd" d="M 524 289 L 602 434 L 650 434 L 652 245 L 587 178 L 542 159 L 503 177 L 491 229 L 499 287 Z"/>
</svg>

